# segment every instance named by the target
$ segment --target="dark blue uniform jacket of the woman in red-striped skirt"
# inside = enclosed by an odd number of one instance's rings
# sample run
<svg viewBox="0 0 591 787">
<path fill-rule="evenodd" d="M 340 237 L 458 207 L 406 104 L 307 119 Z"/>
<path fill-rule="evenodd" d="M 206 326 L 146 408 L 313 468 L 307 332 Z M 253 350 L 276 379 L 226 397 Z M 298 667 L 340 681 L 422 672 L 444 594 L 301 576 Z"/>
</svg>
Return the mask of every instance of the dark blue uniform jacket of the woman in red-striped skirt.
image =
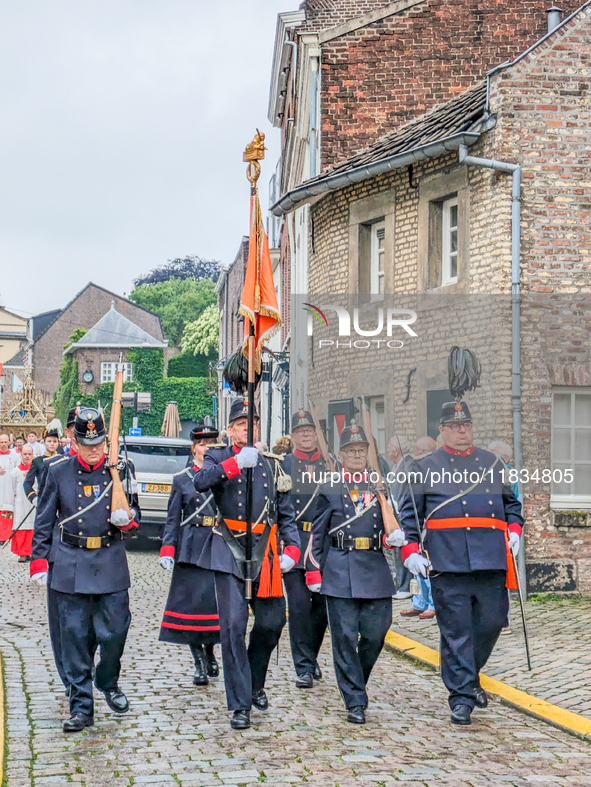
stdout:
<svg viewBox="0 0 591 787">
<path fill-rule="evenodd" d="M 161 556 L 173 557 L 177 563 L 197 565 L 208 536 L 211 534 L 216 514 L 213 498 L 195 515 L 207 498 L 209 489 L 197 492 L 194 478 L 198 470 L 186 467 L 172 479 L 172 492 L 168 500 L 168 514 L 162 536 Z M 205 524 L 204 524 L 205 521 Z"/>
</svg>

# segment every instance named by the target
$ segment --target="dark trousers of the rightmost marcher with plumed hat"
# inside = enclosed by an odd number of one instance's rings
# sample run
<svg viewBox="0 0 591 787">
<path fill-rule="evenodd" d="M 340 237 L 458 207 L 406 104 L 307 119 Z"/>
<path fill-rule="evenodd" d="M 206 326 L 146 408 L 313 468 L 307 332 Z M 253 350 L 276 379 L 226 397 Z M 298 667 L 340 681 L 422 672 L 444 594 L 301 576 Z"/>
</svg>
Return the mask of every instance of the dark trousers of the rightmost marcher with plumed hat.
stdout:
<svg viewBox="0 0 591 787">
<path fill-rule="evenodd" d="M 474 686 L 507 624 L 505 571 L 442 573 L 431 576 L 441 634 L 441 678 L 450 708 L 474 708 Z"/>
</svg>

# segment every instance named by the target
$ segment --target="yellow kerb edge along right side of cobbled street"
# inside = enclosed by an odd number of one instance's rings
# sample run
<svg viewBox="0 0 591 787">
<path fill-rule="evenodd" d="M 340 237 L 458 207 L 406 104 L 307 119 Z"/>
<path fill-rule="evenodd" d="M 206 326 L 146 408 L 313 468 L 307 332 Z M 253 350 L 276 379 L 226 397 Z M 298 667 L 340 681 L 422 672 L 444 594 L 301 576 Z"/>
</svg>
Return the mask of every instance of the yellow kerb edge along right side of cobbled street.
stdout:
<svg viewBox="0 0 591 787">
<path fill-rule="evenodd" d="M 430 669 L 439 668 L 438 651 L 410 637 L 389 631 L 386 634 L 385 647 Z M 591 719 L 560 708 L 558 705 L 552 705 L 552 703 L 534 697 L 521 689 L 515 689 L 500 680 L 489 678 L 488 675 L 481 674 L 480 683 L 487 694 L 492 695 L 503 705 L 508 705 L 528 716 L 591 742 Z"/>
</svg>

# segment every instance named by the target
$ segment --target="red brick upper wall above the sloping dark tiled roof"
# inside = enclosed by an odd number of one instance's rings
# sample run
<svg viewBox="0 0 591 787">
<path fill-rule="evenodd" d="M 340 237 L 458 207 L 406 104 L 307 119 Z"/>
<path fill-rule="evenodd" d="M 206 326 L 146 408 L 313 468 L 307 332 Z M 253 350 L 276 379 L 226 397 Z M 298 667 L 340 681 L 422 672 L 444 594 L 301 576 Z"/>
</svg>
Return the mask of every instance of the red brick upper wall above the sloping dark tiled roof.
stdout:
<svg viewBox="0 0 591 787">
<path fill-rule="evenodd" d="M 355 4 L 338 5 L 351 11 Z M 367 2 L 356 5 L 360 13 L 372 10 Z M 431 0 L 324 43 L 322 168 L 514 59 L 546 33 L 549 5 L 541 0 Z M 566 16 L 580 2 L 560 5 Z M 343 21 L 337 14 L 331 24 L 329 8 L 321 10 L 318 21 L 324 27 Z M 313 26 L 311 19 L 307 27 Z"/>
</svg>

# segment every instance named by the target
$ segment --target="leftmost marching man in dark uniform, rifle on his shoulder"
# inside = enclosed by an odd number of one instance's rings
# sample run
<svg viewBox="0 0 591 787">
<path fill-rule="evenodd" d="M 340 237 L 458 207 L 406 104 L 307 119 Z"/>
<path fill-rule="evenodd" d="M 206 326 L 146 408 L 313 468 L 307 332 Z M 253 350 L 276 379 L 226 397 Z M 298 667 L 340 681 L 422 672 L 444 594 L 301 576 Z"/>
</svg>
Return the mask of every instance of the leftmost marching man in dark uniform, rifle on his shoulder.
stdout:
<svg viewBox="0 0 591 787">
<path fill-rule="evenodd" d="M 95 685 L 117 713 L 129 709 L 119 689 L 121 656 L 131 621 L 129 570 L 123 532 L 137 526 L 124 510 L 111 511 L 110 473 L 106 467 L 105 426 L 93 408 L 76 416 L 78 456 L 50 465 L 37 507 L 31 579 L 47 583 L 53 565 L 62 642 L 62 663 L 70 686 L 71 718 L 64 732 L 78 732 L 94 723 L 92 668 L 96 644 L 100 660 Z M 124 472 L 120 471 L 120 472 Z"/>
</svg>

